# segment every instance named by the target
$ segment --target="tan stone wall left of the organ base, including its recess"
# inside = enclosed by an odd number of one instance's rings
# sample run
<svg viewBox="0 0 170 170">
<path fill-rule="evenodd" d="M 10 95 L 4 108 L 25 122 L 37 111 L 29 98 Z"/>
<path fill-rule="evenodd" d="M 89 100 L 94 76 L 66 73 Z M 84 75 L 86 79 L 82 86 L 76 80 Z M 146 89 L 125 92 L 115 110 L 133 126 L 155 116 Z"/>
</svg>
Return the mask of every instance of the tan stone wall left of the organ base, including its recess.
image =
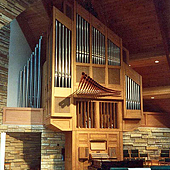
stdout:
<svg viewBox="0 0 170 170">
<path fill-rule="evenodd" d="M 7 133 L 5 160 L 11 162 L 12 170 L 30 169 L 32 164 L 30 161 L 32 160 L 29 159 L 29 156 L 36 154 L 35 147 L 41 147 L 41 170 L 65 169 L 61 154 L 62 148 L 65 146 L 65 135 L 63 133 L 48 130 L 41 125 L 1 125 L 1 132 Z M 35 134 L 40 135 L 40 146 L 37 143 L 37 137 L 31 144 Z M 28 154 L 29 149 L 31 149 L 31 152 Z M 36 157 L 38 159 L 38 155 Z M 6 167 L 9 168 L 9 166 Z"/>
</svg>

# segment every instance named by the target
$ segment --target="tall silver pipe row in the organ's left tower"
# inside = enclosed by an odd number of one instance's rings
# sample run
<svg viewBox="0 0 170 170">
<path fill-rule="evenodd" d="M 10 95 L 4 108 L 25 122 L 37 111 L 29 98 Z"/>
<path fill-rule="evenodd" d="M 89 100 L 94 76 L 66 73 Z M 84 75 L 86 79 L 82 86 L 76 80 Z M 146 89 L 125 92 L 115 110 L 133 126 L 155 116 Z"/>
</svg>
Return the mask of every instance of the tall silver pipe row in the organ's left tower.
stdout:
<svg viewBox="0 0 170 170">
<path fill-rule="evenodd" d="M 71 31 L 57 20 L 55 42 L 54 86 L 71 88 Z M 76 48 L 78 59 L 78 46 Z"/>
</svg>

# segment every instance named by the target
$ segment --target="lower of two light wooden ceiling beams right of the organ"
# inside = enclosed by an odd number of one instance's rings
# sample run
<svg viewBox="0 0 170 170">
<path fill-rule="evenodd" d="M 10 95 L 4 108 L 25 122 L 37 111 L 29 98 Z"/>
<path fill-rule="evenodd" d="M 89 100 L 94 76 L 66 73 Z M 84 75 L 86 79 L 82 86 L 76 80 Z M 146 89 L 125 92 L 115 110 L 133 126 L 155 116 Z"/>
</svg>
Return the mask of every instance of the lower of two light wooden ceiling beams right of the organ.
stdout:
<svg viewBox="0 0 170 170">
<path fill-rule="evenodd" d="M 170 98 L 170 86 L 143 88 L 143 99 L 167 99 Z"/>
</svg>

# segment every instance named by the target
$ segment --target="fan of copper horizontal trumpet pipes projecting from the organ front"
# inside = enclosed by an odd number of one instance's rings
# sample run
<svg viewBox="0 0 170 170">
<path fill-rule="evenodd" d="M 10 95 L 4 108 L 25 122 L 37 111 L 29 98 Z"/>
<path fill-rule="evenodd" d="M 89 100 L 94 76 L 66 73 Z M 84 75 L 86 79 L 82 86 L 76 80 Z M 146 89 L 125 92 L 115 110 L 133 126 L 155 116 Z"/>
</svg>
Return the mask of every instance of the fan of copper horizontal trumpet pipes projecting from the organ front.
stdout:
<svg viewBox="0 0 170 170">
<path fill-rule="evenodd" d="M 97 96 L 120 96 L 120 93 L 121 93 L 120 91 L 112 90 L 100 85 L 90 76 L 87 76 L 87 74 L 82 72 L 82 76 L 78 85 L 77 94 Z"/>
</svg>

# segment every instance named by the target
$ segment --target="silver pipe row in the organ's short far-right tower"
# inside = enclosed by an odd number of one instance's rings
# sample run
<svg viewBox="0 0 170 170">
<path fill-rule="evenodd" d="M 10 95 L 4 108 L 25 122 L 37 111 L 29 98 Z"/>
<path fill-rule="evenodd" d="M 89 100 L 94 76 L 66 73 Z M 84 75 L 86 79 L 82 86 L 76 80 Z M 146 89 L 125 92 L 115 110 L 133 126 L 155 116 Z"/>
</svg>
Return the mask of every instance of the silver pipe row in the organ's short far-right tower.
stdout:
<svg viewBox="0 0 170 170">
<path fill-rule="evenodd" d="M 140 85 L 125 75 L 126 109 L 140 110 Z"/>
</svg>

